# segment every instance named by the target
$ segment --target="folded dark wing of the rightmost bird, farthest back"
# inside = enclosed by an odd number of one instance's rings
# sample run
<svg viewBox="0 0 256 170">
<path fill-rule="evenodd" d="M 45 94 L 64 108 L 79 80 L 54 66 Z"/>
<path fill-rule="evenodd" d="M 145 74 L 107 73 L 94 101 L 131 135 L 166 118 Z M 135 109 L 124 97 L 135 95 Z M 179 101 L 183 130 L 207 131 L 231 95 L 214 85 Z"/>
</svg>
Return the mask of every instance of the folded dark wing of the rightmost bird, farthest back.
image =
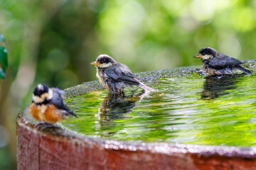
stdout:
<svg viewBox="0 0 256 170">
<path fill-rule="evenodd" d="M 241 64 L 241 62 L 233 57 L 219 53 L 218 56 L 210 59 L 208 64 L 210 67 L 213 67 L 213 69 L 224 69 L 225 67 L 234 67 L 235 65 Z"/>
</svg>

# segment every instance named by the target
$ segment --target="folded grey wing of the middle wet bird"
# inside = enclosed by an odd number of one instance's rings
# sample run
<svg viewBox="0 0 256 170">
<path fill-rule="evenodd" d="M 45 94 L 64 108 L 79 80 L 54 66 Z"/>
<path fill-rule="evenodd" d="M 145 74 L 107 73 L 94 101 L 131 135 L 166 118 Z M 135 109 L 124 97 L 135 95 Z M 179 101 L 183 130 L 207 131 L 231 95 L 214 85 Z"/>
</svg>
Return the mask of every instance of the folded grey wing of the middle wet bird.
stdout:
<svg viewBox="0 0 256 170">
<path fill-rule="evenodd" d="M 139 85 L 140 82 L 137 77 L 134 77 L 134 74 L 129 70 L 129 68 L 121 63 L 118 63 L 114 67 L 108 67 L 102 72 L 104 77 L 116 80 L 124 81 L 128 84 Z"/>
</svg>

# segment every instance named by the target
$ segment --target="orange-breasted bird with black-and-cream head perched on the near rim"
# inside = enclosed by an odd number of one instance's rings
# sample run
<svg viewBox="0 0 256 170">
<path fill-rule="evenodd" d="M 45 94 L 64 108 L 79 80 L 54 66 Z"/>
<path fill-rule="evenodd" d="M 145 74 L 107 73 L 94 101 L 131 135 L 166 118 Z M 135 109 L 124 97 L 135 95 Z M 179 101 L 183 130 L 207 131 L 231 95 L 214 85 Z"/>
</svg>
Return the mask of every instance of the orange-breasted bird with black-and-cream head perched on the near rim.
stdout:
<svg viewBox="0 0 256 170">
<path fill-rule="evenodd" d="M 38 84 L 33 91 L 33 101 L 29 106 L 30 113 L 39 122 L 54 124 L 63 120 L 66 116 L 75 116 L 64 103 L 61 95 L 63 91 L 57 88 L 48 88 L 44 84 Z"/>
</svg>

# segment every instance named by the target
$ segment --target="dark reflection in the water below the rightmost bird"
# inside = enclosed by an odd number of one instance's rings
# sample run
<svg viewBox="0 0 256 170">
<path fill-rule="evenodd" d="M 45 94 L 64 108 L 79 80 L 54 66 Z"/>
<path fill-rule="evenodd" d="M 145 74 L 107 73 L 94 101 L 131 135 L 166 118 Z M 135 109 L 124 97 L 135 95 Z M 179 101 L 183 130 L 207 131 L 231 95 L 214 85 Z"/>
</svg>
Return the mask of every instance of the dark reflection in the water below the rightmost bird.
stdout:
<svg viewBox="0 0 256 170">
<path fill-rule="evenodd" d="M 236 89 L 234 85 L 238 83 L 238 77 L 240 76 L 206 77 L 206 81 L 203 83 L 203 91 L 201 92 L 201 100 L 210 100 L 230 94 L 228 90 Z"/>
</svg>

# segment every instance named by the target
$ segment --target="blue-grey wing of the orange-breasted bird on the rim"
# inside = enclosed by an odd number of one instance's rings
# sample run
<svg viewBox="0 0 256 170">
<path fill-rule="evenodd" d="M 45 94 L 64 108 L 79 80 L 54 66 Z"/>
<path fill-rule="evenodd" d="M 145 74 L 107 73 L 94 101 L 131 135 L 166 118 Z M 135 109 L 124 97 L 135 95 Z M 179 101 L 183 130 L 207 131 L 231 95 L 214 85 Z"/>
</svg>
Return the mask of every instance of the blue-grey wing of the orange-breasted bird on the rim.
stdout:
<svg viewBox="0 0 256 170">
<path fill-rule="evenodd" d="M 50 100 L 50 103 L 52 103 L 56 108 L 65 111 L 65 115 L 75 115 L 73 111 L 70 111 L 70 108 L 68 108 L 61 97 L 64 94 L 64 91 L 57 88 L 51 89 L 53 90 L 53 98 Z M 77 115 L 75 116 L 77 117 Z"/>
</svg>

